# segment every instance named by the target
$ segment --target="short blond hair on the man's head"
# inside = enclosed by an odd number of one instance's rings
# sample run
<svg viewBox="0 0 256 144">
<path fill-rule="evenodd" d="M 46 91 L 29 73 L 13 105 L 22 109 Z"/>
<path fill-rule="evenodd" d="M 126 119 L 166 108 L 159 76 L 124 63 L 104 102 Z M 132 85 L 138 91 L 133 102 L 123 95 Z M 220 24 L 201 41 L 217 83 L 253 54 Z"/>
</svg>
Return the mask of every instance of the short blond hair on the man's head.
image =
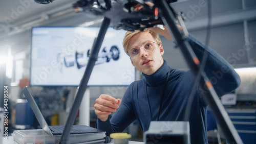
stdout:
<svg viewBox="0 0 256 144">
<path fill-rule="evenodd" d="M 140 30 L 135 30 L 134 32 L 128 31 L 128 32 L 126 32 L 126 34 L 125 34 L 125 36 L 123 38 L 123 49 L 124 49 L 126 54 L 128 54 L 128 52 L 127 52 L 128 47 L 127 46 L 128 46 L 128 43 L 129 43 L 130 39 L 134 35 L 136 35 L 138 33 L 141 33 L 141 32 L 148 32 L 148 33 L 150 33 L 152 35 L 152 37 L 156 40 L 158 45 L 162 44 L 162 41 L 161 41 L 159 35 L 156 32 L 153 32 L 151 30 L 144 29 L 144 31 L 140 31 Z"/>
</svg>

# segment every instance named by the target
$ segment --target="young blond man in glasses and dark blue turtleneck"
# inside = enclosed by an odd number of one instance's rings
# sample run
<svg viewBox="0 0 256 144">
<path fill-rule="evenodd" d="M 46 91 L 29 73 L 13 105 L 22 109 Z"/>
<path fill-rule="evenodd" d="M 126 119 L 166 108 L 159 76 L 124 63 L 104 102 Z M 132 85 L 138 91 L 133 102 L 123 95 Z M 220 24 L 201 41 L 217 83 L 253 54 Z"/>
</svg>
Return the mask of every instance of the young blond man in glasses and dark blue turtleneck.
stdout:
<svg viewBox="0 0 256 144">
<path fill-rule="evenodd" d="M 110 95 L 101 94 L 96 100 L 96 128 L 106 131 L 107 135 L 122 132 L 136 119 L 143 132 L 148 130 L 151 121 L 184 120 L 184 111 L 194 78 L 190 71 L 173 69 L 167 65 L 162 58 L 163 45 L 154 31 L 173 41 L 166 29 L 162 31 L 158 28 L 146 29 L 143 32 L 127 32 L 124 37 L 124 51 L 144 78 L 133 82 L 127 88 L 120 107 L 120 99 Z M 204 44 L 191 35 L 188 36 L 188 42 L 201 60 Z M 205 73 L 208 78 L 221 73 L 222 77 L 212 82 L 219 97 L 233 91 L 240 84 L 240 78 L 232 66 L 211 49 L 208 49 Z M 189 117 L 191 143 L 208 143 L 207 104 L 202 97 L 203 91 L 197 88 Z M 112 112 L 115 114 L 110 119 L 109 115 Z"/>
</svg>

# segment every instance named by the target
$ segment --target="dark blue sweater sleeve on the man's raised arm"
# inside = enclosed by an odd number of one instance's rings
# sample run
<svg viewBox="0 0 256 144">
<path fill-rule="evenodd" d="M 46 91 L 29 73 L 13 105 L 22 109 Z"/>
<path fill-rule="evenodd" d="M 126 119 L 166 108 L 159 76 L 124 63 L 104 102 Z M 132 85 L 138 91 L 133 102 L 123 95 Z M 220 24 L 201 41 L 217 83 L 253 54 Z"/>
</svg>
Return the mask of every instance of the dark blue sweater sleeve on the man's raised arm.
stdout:
<svg viewBox="0 0 256 144">
<path fill-rule="evenodd" d="M 209 47 L 205 49 L 205 44 L 191 34 L 188 36 L 188 42 L 199 61 L 202 61 L 204 51 L 208 51 L 204 71 L 219 97 L 232 92 L 240 85 L 241 80 L 239 75 L 222 56 Z"/>
</svg>

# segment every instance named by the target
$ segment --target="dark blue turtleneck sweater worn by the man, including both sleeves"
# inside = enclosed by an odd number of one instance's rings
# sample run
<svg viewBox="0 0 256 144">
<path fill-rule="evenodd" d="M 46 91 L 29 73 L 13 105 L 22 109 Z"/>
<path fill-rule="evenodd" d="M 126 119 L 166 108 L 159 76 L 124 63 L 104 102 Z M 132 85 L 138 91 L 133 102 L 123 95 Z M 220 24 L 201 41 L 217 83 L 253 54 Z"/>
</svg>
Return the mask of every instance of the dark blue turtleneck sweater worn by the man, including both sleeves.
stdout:
<svg viewBox="0 0 256 144">
<path fill-rule="evenodd" d="M 189 35 L 188 42 L 201 60 L 204 52 L 203 44 L 191 35 Z M 236 89 L 240 84 L 240 78 L 232 66 L 219 54 L 211 49 L 208 49 L 208 52 L 205 73 L 221 97 Z M 106 135 L 109 135 L 114 132 L 122 132 L 137 119 L 142 131 L 147 131 L 150 126 L 151 115 L 152 121 L 157 121 L 168 71 L 170 71 L 170 75 L 163 95 L 159 121 L 184 121 L 184 111 L 194 84 L 194 78 L 190 71 L 170 68 L 164 61 L 164 64 L 154 74 L 143 74 L 142 80 L 133 82 L 124 93 L 120 107 L 113 117 L 106 122 L 101 122 L 98 119 L 96 128 L 106 131 Z M 148 100 L 145 92 L 146 84 Z M 208 143 L 206 133 L 207 104 L 202 99 L 203 92 L 203 90 L 197 89 L 191 106 L 189 117 L 191 143 Z"/>
</svg>

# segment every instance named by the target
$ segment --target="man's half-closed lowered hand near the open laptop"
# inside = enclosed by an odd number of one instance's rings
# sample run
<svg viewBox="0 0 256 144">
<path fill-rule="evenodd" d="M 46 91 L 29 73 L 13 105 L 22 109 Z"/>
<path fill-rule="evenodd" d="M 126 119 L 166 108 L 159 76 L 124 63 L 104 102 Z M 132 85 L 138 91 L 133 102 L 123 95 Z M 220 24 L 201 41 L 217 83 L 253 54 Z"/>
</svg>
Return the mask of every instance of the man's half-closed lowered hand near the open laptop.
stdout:
<svg viewBox="0 0 256 144">
<path fill-rule="evenodd" d="M 112 112 L 116 112 L 119 108 L 121 100 L 115 99 L 108 94 L 101 94 L 98 99 L 96 99 L 96 104 L 93 105 L 95 108 L 95 114 L 98 116 L 100 121 L 105 122 L 108 120 L 109 115 Z"/>
</svg>

